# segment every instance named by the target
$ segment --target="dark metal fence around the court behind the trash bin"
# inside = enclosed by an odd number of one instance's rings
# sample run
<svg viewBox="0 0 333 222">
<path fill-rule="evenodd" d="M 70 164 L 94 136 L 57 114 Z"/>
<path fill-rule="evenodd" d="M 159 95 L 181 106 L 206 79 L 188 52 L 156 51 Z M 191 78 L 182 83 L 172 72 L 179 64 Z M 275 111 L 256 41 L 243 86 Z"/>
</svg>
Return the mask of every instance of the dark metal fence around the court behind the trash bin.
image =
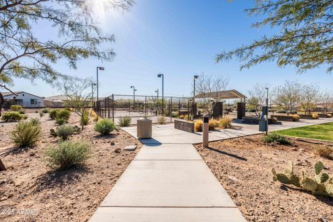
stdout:
<svg viewBox="0 0 333 222">
<path fill-rule="evenodd" d="M 140 96 L 112 94 L 94 102 L 94 111 L 102 118 L 116 121 L 120 117 L 129 116 L 132 123 L 140 117 L 148 117 L 157 122 L 159 115 L 164 115 L 166 121 L 173 121 L 180 115 L 189 113 L 190 99 L 176 96 Z M 169 117 L 169 118 L 168 118 Z"/>
</svg>

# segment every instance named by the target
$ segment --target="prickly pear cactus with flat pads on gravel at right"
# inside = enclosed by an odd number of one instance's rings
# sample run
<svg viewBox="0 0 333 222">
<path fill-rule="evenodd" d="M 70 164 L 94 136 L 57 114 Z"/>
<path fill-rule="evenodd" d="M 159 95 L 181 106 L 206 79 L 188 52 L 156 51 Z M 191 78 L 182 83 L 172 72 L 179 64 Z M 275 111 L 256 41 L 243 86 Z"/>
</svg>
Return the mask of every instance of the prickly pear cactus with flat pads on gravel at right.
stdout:
<svg viewBox="0 0 333 222">
<path fill-rule="evenodd" d="M 330 178 L 327 173 L 321 173 L 325 169 L 322 162 L 316 162 L 314 165 L 314 171 L 316 176 L 314 179 L 309 178 L 302 171 L 302 177 L 298 177 L 293 172 L 293 163 L 290 162 L 289 169 L 286 169 L 284 173 L 276 173 L 272 169 L 273 181 L 279 181 L 286 185 L 294 185 L 311 192 L 314 195 L 331 196 L 333 197 L 333 178 Z"/>
</svg>

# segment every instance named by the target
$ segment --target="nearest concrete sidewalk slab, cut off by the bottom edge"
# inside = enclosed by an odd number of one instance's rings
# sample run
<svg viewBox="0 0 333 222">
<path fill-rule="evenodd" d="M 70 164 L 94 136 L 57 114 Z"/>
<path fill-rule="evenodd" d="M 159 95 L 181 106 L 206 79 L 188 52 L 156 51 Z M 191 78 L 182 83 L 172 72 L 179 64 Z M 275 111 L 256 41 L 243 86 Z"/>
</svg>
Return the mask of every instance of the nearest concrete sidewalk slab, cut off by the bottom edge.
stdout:
<svg viewBox="0 0 333 222">
<path fill-rule="evenodd" d="M 99 207 L 94 222 L 243 222 L 237 208 Z"/>
</svg>

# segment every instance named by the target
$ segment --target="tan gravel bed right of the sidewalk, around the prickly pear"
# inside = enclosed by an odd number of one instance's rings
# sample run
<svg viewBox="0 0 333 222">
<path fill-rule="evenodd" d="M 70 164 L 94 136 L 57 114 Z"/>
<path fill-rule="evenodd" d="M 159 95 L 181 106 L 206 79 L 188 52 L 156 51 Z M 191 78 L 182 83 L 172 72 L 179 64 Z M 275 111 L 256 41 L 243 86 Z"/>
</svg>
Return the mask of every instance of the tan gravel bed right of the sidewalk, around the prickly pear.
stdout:
<svg viewBox="0 0 333 222">
<path fill-rule="evenodd" d="M 300 175 L 314 177 L 314 164 L 323 162 L 330 177 L 333 160 L 314 155 L 314 141 L 291 139 L 290 146 L 268 145 L 263 135 L 196 145 L 200 155 L 228 191 L 248 221 L 333 221 L 333 198 L 313 196 L 297 187 L 273 182 L 271 169 L 284 171 L 289 160 Z"/>
</svg>

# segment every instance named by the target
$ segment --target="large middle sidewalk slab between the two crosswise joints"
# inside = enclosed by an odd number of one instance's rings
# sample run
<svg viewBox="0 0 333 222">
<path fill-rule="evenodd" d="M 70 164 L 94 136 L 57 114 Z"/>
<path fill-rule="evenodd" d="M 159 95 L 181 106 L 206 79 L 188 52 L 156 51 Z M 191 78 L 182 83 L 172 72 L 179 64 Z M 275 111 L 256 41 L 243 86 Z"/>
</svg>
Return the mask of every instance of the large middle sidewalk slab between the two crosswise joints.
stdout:
<svg viewBox="0 0 333 222">
<path fill-rule="evenodd" d="M 101 207 L 236 207 L 203 160 L 133 161 Z"/>
</svg>

